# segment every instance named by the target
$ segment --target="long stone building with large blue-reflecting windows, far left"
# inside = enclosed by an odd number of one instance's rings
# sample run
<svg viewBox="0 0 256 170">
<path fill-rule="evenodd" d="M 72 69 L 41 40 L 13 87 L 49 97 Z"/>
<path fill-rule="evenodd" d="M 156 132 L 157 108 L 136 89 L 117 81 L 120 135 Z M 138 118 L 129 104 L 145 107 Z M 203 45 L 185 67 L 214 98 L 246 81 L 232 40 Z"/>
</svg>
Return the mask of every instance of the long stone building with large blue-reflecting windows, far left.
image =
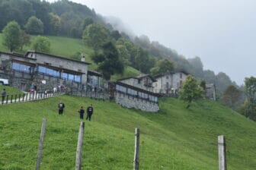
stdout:
<svg viewBox="0 0 256 170">
<path fill-rule="evenodd" d="M 89 63 L 43 52 L 28 51 L 25 55 L 0 52 L 0 76 L 10 85 L 28 90 L 31 84 L 40 90 L 52 90 L 62 84 L 80 88 L 87 83 Z"/>
</svg>

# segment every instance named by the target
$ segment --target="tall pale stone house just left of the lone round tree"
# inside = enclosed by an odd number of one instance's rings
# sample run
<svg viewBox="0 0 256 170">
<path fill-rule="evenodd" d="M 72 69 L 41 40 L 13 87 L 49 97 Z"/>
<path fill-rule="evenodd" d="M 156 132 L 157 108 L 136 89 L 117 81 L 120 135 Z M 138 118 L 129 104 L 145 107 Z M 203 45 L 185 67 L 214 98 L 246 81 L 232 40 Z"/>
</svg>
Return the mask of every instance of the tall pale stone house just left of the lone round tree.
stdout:
<svg viewBox="0 0 256 170">
<path fill-rule="evenodd" d="M 167 71 L 165 74 L 155 76 L 154 78 L 156 81 L 153 83 L 154 92 L 163 94 L 177 94 L 182 83 L 186 80 L 187 75 L 188 74 L 185 71 Z"/>
</svg>

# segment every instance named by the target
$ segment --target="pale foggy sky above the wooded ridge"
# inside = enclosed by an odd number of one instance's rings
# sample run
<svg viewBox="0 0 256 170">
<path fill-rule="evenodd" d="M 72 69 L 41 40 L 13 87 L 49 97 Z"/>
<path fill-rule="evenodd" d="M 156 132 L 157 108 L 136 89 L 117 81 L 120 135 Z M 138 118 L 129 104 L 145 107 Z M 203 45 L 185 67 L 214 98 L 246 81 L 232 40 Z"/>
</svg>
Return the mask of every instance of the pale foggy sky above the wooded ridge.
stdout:
<svg viewBox="0 0 256 170">
<path fill-rule="evenodd" d="M 72 1 L 119 17 L 136 35 L 147 35 L 185 58 L 200 57 L 204 70 L 225 72 L 238 85 L 256 77 L 254 0 Z"/>
</svg>

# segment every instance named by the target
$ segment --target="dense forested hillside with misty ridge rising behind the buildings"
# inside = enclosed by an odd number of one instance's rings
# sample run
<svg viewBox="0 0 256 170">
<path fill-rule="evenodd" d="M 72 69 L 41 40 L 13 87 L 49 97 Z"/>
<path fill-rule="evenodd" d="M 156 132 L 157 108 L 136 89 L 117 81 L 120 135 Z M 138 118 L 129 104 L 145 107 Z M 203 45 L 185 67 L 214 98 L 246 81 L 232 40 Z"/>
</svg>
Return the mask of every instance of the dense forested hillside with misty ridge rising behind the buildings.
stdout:
<svg viewBox="0 0 256 170">
<path fill-rule="evenodd" d="M 151 42 L 147 36 L 132 37 L 116 30 L 104 20 L 104 17 L 86 5 L 67 0 L 54 3 L 40 0 L 2 0 L 0 30 L 3 30 L 12 20 L 15 20 L 21 30 L 30 35 L 68 36 L 82 39 L 85 42 L 83 46 L 92 49 L 94 52 L 91 55 L 95 56 L 102 53 L 104 43 L 112 42 L 123 67 L 130 66 L 144 74 L 161 74 L 165 70 L 159 69 L 159 65 L 164 58 L 167 58 L 173 65 L 168 70 L 187 71 L 200 80 L 206 80 L 206 83 L 215 83 L 219 98 L 229 85 L 235 85 L 225 73 L 215 74 L 213 71 L 204 70 L 199 57 L 186 59 L 159 42 Z M 27 44 L 24 42 L 21 48 L 14 51 L 24 52 L 23 46 L 27 49 Z M 31 48 L 33 49 L 33 46 Z M 81 54 L 82 52 L 77 52 L 76 55 Z M 91 58 L 94 57 L 91 56 Z M 99 64 L 98 61 L 93 61 Z M 120 69 L 117 71 L 121 73 Z M 101 68 L 98 68 L 98 71 L 102 71 Z"/>
</svg>

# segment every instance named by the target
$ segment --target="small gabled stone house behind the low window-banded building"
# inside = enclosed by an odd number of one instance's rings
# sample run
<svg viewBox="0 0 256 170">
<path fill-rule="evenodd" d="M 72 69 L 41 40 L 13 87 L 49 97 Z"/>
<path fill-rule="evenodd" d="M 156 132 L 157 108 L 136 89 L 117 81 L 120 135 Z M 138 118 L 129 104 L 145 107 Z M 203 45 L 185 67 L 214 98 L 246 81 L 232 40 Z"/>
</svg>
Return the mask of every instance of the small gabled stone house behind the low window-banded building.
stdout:
<svg viewBox="0 0 256 170">
<path fill-rule="evenodd" d="M 126 77 L 120 80 L 122 83 L 129 84 L 133 87 L 138 87 L 142 90 L 147 90 L 150 92 L 153 92 L 153 86 L 152 84 L 156 81 L 154 77 L 146 74 L 146 75 L 139 75 L 137 77 Z"/>
</svg>

